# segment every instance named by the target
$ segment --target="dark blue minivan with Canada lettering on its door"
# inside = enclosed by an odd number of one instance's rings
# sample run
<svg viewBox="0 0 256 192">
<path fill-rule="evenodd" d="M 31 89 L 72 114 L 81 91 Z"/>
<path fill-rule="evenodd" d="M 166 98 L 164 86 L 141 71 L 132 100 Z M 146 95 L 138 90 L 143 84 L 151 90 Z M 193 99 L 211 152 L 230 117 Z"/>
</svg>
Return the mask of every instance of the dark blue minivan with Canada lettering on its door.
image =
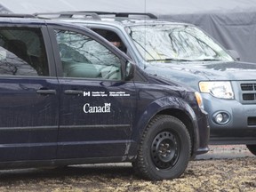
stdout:
<svg viewBox="0 0 256 192">
<path fill-rule="evenodd" d="M 0 20 L 1 169 L 131 162 L 164 180 L 208 151 L 195 90 L 145 74 L 90 29 Z"/>
</svg>

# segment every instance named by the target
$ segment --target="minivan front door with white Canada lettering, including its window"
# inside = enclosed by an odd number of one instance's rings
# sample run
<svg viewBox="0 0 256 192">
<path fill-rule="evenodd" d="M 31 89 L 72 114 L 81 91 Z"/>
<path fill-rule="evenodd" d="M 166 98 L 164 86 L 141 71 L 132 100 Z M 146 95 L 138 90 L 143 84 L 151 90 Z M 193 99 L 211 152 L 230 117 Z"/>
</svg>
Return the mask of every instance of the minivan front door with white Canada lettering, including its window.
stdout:
<svg viewBox="0 0 256 192">
<path fill-rule="evenodd" d="M 55 30 L 60 49 L 58 158 L 124 156 L 136 94 L 120 60 L 92 37 Z"/>
</svg>

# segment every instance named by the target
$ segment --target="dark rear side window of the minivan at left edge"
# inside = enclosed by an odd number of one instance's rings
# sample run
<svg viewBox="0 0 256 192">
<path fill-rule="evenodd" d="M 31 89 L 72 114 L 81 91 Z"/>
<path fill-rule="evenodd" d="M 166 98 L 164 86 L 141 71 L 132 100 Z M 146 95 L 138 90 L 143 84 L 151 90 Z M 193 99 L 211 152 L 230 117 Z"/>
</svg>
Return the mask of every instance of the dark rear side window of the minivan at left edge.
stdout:
<svg viewBox="0 0 256 192">
<path fill-rule="evenodd" d="M 40 28 L 0 28 L 0 76 L 49 76 Z"/>
</svg>

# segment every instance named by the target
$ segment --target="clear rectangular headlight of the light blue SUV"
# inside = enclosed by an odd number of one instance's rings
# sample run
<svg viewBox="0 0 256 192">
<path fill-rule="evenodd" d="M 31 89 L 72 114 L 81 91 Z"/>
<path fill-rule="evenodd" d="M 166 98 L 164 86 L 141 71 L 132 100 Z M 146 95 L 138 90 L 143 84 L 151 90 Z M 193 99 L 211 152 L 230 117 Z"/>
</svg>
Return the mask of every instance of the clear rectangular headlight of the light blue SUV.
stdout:
<svg viewBox="0 0 256 192">
<path fill-rule="evenodd" d="M 207 92 L 220 99 L 234 99 L 234 92 L 229 81 L 222 82 L 200 82 L 200 92 Z"/>
</svg>

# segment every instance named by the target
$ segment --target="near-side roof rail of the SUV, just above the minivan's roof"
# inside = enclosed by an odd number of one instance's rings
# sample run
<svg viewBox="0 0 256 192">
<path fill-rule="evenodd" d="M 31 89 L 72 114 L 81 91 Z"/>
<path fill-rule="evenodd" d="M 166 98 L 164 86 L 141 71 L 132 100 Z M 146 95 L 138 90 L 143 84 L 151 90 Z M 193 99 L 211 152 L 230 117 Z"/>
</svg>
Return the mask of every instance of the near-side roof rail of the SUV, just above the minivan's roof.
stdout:
<svg viewBox="0 0 256 192">
<path fill-rule="evenodd" d="M 100 20 L 100 16 L 95 12 L 37 12 L 34 16 L 39 18 L 86 18 Z"/>
</svg>

